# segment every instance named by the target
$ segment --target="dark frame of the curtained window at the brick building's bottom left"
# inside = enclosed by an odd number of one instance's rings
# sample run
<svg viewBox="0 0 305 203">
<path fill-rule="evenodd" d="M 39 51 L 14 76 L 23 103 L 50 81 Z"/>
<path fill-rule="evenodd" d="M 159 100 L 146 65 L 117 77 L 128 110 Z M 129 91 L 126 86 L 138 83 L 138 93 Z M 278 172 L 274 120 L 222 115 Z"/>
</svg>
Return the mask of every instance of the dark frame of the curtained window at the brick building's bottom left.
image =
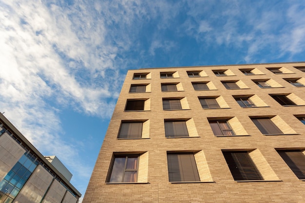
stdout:
<svg viewBox="0 0 305 203">
<path fill-rule="evenodd" d="M 114 164 L 115 164 L 115 159 L 116 158 L 124 158 L 125 157 L 125 164 L 124 164 L 124 168 L 120 168 L 120 171 L 123 170 L 123 174 L 122 174 L 122 181 L 121 182 L 111 182 L 111 177 L 112 177 L 112 173 L 114 171 Z M 128 162 L 128 158 L 129 157 L 137 157 L 137 160 L 136 160 L 136 168 L 135 169 L 128 169 L 126 168 L 127 167 L 127 162 Z M 110 170 L 110 173 L 109 173 L 109 178 L 107 179 L 107 183 L 138 183 L 138 174 L 139 174 L 139 160 L 140 160 L 140 154 L 115 154 L 114 157 L 113 157 L 113 161 L 112 161 L 112 164 L 111 164 L 111 170 Z M 124 182 L 124 179 L 125 179 L 125 173 L 129 172 L 129 171 L 136 171 L 136 180 L 135 182 Z"/>
</svg>

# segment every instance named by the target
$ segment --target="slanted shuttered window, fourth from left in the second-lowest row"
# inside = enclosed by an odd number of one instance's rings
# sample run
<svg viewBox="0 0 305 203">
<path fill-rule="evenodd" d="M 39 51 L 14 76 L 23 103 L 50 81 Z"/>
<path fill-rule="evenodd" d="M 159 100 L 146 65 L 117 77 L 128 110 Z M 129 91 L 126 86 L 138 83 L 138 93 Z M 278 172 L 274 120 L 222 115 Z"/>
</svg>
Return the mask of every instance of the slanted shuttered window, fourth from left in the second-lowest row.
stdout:
<svg viewBox="0 0 305 203">
<path fill-rule="evenodd" d="M 251 118 L 251 120 L 262 134 L 283 134 L 270 118 Z"/>
</svg>

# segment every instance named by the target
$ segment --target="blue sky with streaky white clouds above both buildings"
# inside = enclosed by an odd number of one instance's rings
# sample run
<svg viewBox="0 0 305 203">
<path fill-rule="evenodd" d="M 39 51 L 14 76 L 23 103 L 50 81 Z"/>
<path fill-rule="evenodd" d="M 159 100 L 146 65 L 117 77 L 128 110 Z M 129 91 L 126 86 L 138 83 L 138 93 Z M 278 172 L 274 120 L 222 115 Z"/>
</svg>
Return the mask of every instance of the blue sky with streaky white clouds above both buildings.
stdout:
<svg viewBox="0 0 305 203">
<path fill-rule="evenodd" d="M 0 0 L 0 111 L 83 195 L 128 69 L 290 61 L 304 0 Z"/>
</svg>

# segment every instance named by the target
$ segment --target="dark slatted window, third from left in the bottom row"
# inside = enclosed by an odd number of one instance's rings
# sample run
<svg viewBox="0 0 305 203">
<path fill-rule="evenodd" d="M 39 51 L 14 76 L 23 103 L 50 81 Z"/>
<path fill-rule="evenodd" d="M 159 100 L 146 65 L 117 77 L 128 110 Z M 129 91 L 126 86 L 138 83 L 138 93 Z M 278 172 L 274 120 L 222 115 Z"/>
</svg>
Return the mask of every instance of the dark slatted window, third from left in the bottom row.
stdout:
<svg viewBox="0 0 305 203">
<path fill-rule="evenodd" d="M 264 180 L 248 151 L 223 151 L 235 181 Z"/>
</svg>

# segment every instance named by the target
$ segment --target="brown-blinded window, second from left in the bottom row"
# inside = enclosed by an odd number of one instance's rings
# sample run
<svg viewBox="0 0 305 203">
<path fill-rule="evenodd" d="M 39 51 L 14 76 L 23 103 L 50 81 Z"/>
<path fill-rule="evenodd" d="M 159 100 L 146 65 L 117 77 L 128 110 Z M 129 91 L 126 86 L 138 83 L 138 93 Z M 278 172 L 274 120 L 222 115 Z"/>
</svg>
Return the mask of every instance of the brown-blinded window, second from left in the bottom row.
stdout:
<svg viewBox="0 0 305 203">
<path fill-rule="evenodd" d="M 200 182 L 194 153 L 168 153 L 170 182 Z"/>
</svg>

